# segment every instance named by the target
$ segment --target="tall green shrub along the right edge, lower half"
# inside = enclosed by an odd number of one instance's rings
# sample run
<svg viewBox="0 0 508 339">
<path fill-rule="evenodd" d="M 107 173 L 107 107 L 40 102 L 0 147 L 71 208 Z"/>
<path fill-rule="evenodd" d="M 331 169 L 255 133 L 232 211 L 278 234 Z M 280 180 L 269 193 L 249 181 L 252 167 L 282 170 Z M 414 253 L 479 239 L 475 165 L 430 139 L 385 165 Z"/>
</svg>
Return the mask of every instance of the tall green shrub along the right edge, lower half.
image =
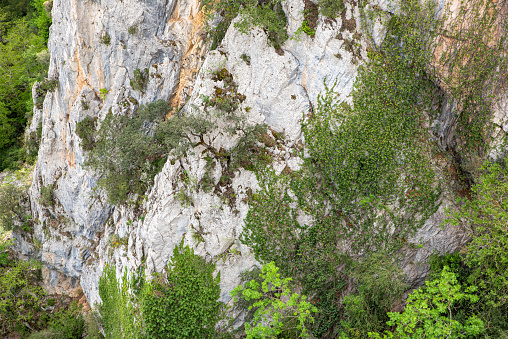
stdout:
<svg viewBox="0 0 508 339">
<path fill-rule="evenodd" d="M 508 169 L 486 163 L 481 171 L 472 200 L 462 199 L 461 209 L 447 220 L 470 225 L 473 239 L 462 254 L 435 258 L 434 267 L 450 264 L 460 283 L 478 287 L 480 302 L 461 305 L 462 312 L 478 315 L 495 338 L 508 333 Z"/>
</svg>

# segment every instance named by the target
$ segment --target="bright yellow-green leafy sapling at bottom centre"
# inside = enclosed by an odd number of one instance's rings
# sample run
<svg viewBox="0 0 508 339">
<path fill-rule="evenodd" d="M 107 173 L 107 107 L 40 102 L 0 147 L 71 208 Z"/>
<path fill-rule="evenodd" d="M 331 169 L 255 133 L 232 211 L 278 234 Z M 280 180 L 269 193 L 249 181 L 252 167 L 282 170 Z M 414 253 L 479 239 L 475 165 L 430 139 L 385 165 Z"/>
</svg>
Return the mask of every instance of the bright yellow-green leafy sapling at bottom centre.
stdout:
<svg viewBox="0 0 508 339">
<path fill-rule="evenodd" d="M 231 291 L 236 303 L 238 298 L 255 301 L 249 306 L 249 310 L 257 308 L 253 324 L 245 324 L 247 338 L 273 338 L 292 332 L 299 338 L 309 336 L 305 325 L 314 321 L 311 312 L 317 312 L 317 308 L 306 301 L 305 295 L 294 293 L 289 286 L 292 279 L 283 279 L 278 271 L 275 263 L 270 262 L 263 265 L 259 274 L 261 283 L 251 280 Z"/>
</svg>

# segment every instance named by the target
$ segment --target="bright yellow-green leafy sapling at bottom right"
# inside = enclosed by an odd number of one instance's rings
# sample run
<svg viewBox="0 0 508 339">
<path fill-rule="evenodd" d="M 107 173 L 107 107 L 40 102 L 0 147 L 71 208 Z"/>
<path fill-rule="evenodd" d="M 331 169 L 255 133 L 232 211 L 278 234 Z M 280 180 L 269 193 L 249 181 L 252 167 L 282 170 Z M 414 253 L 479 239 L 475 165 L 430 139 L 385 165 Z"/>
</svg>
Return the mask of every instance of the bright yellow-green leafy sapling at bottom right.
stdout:
<svg viewBox="0 0 508 339">
<path fill-rule="evenodd" d="M 453 319 L 453 305 L 462 300 L 478 301 L 476 287 L 463 288 L 455 274 L 445 266 L 441 278 L 426 282 L 425 288 L 414 290 L 408 296 L 402 313 L 388 313 L 388 325 L 396 326 L 395 335 L 388 332 L 383 337 L 371 333 L 372 338 L 467 338 L 485 331 L 483 322 L 475 315 L 465 321 Z"/>
</svg>

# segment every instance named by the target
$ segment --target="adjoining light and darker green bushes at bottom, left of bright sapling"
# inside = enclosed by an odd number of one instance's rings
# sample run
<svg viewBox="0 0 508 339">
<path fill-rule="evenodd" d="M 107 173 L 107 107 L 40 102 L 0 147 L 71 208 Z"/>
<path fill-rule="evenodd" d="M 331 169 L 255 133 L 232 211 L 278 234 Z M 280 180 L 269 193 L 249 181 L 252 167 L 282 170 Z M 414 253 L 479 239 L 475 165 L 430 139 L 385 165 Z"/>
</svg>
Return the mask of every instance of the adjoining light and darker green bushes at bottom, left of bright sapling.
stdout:
<svg viewBox="0 0 508 339">
<path fill-rule="evenodd" d="M 222 319 L 220 274 L 215 264 L 183 242 L 163 273 L 116 279 L 114 267 L 99 281 L 99 310 L 106 338 L 215 338 Z"/>
</svg>

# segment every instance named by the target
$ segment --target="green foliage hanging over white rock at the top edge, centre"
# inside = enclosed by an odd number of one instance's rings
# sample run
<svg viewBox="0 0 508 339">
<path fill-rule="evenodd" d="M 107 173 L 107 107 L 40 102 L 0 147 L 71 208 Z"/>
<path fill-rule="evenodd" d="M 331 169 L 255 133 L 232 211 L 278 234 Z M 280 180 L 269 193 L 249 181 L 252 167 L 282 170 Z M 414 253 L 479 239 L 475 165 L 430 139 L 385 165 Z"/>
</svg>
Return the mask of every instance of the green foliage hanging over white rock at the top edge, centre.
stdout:
<svg viewBox="0 0 508 339">
<path fill-rule="evenodd" d="M 211 49 L 219 46 L 231 22 L 239 14 L 242 17 L 235 27 L 243 33 L 248 33 L 252 26 L 260 27 L 265 30 L 270 43 L 276 49 L 288 38 L 285 27 L 287 18 L 282 10 L 281 0 L 268 0 L 264 4 L 259 4 L 258 0 L 204 0 L 203 10 L 208 22 L 216 15 L 222 17 L 216 27 L 208 27 L 212 38 Z"/>
</svg>

